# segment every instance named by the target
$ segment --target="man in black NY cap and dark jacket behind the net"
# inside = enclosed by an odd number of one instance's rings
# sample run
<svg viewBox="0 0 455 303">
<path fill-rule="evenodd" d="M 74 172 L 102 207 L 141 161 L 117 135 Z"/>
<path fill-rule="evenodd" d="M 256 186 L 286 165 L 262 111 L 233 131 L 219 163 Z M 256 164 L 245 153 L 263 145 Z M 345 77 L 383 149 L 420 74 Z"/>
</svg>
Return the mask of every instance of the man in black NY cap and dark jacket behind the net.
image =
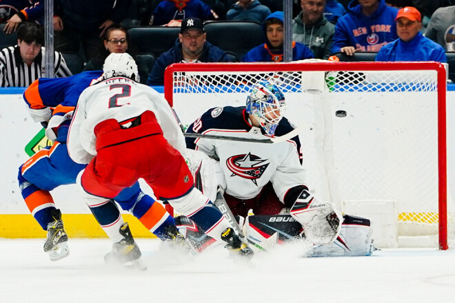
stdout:
<svg viewBox="0 0 455 303">
<path fill-rule="evenodd" d="M 172 63 L 229 62 L 232 57 L 206 41 L 204 25 L 199 18 L 183 19 L 179 43 L 156 59 L 147 85 L 163 85 L 164 70 Z"/>
</svg>

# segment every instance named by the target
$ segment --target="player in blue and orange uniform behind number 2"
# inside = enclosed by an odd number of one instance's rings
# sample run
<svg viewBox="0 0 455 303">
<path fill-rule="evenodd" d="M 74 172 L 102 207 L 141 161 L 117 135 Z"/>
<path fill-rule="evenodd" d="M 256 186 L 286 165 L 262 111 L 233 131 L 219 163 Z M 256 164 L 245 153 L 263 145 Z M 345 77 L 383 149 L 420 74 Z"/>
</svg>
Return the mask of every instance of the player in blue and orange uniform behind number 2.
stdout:
<svg viewBox="0 0 455 303">
<path fill-rule="evenodd" d="M 66 147 L 68 127 L 79 95 L 101 75 L 102 72 L 91 71 L 68 78 L 41 78 L 34 81 L 23 93 L 30 115 L 35 122 L 45 125 L 46 136 L 54 142 L 52 147 L 41 149 L 23 163 L 19 167 L 18 176 L 21 194 L 28 209 L 41 227 L 48 231 L 44 251 L 49 253 L 51 260 L 65 258 L 69 250 L 61 211 L 54 204 L 50 191 L 60 185 L 76 183 L 79 172 L 85 168 L 85 165 L 74 163 L 68 156 Z M 175 227 L 174 218 L 160 203 L 143 194 L 137 182 L 132 187 L 123 189 L 114 200 L 122 209 L 136 216 L 161 240 L 172 240 L 184 245 L 183 237 Z M 118 236 L 119 222 L 122 235 L 130 235 L 130 230 L 128 223 L 123 224 L 123 218 L 114 200 L 88 206 L 108 236 L 114 242 L 119 242 L 123 240 Z M 128 254 L 120 254 L 117 257 L 121 262 L 128 261 L 129 258 Z"/>
</svg>

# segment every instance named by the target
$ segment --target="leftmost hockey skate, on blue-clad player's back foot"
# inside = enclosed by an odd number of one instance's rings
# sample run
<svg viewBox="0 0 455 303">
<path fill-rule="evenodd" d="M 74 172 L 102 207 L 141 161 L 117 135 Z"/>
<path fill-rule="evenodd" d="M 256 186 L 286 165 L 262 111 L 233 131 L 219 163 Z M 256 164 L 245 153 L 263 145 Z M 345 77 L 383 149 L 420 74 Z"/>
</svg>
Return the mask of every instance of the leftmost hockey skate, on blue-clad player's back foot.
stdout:
<svg viewBox="0 0 455 303">
<path fill-rule="evenodd" d="M 44 242 L 44 251 L 48 253 L 51 261 L 57 261 L 67 257 L 70 249 L 68 249 L 68 235 L 63 229 L 60 210 L 52 209 L 51 216 L 54 221 L 48 223 L 48 238 Z"/>
</svg>

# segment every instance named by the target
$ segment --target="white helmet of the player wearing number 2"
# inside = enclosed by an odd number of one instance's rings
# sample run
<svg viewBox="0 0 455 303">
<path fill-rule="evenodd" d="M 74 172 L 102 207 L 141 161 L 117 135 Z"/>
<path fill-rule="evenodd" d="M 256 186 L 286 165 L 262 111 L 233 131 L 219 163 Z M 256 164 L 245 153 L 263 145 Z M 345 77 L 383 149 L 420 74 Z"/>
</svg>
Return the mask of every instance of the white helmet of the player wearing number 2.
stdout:
<svg viewBox="0 0 455 303">
<path fill-rule="evenodd" d="M 139 72 L 132 56 L 127 53 L 117 54 L 113 52 L 105 59 L 103 79 L 109 79 L 114 76 L 124 76 L 139 82 Z"/>
</svg>

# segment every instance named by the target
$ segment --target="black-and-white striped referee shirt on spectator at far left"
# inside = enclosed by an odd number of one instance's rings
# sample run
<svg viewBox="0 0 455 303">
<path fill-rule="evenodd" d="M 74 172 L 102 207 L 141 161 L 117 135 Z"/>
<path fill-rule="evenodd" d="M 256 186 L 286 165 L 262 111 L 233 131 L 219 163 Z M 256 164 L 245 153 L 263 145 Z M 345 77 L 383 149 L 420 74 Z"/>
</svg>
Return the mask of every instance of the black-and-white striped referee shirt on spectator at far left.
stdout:
<svg viewBox="0 0 455 303">
<path fill-rule="evenodd" d="M 0 87 L 28 87 L 33 81 L 45 76 L 44 47 L 28 65 L 22 60 L 19 45 L 3 48 L 0 51 Z M 71 76 L 65 59 L 60 52 L 54 54 L 54 72 L 56 77 Z"/>
</svg>

